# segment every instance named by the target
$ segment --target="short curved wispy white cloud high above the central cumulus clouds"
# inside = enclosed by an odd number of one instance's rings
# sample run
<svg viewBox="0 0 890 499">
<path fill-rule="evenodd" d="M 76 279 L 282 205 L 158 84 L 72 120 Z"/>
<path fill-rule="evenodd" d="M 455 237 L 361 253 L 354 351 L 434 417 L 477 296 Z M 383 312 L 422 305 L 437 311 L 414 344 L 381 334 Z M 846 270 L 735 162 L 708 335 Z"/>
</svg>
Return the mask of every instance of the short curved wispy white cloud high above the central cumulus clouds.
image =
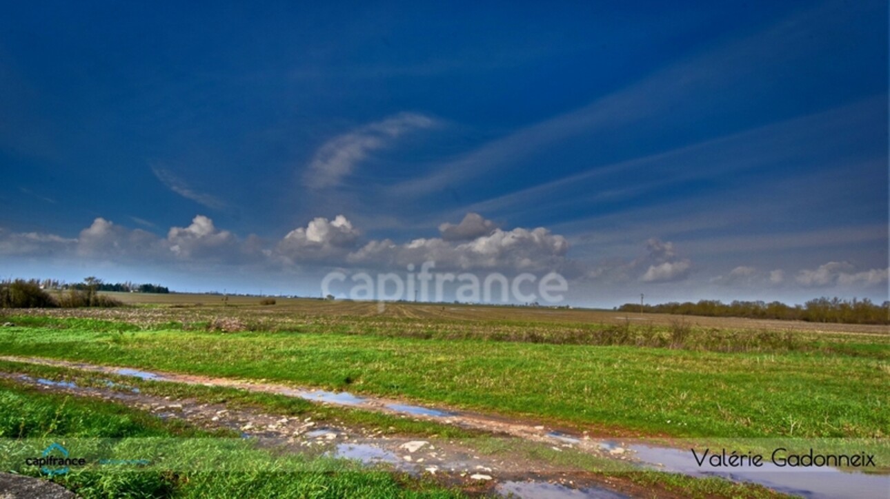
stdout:
<svg viewBox="0 0 890 499">
<path fill-rule="evenodd" d="M 405 133 L 433 125 L 436 125 L 433 118 L 400 113 L 339 135 L 315 153 L 304 177 L 305 184 L 312 189 L 336 186 L 371 152 L 390 147 Z"/>
</svg>

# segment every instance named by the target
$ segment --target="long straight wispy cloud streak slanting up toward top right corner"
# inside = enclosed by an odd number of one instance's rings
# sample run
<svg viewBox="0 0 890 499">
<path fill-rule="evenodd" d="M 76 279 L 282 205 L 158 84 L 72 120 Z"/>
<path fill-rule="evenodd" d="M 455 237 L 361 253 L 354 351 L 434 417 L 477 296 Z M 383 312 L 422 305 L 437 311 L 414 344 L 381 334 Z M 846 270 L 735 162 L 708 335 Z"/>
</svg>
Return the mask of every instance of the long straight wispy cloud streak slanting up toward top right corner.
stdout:
<svg viewBox="0 0 890 499">
<path fill-rule="evenodd" d="M 873 8 L 867 7 L 869 10 Z M 392 186 L 390 195 L 423 197 L 461 185 L 468 179 L 503 173 L 532 155 L 544 155 L 548 149 L 573 138 L 596 141 L 600 134 L 614 133 L 619 128 L 643 128 L 653 124 L 658 129 L 664 120 L 673 119 L 677 108 L 684 109 L 687 120 L 716 117 L 717 113 L 723 112 L 724 106 L 736 105 L 733 100 L 756 99 L 762 92 L 758 86 L 740 86 L 738 92 L 726 92 L 751 70 L 740 61 L 759 61 L 758 71 L 764 74 L 781 72 L 797 61 L 805 60 L 816 48 L 813 43 L 830 43 L 829 37 L 823 34 L 837 28 L 838 19 L 852 15 L 830 3 L 797 12 L 750 36 L 716 45 L 660 68 L 587 105 L 518 128 L 462 157 L 435 165 L 423 176 Z M 776 52 L 776 46 L 783 50 Z M 702 99 L 702 96 L 708 96 L 711 101 Z M 708 105 L 701 105 L 706 101 Z M 479 208 L 473 206 L 473 209 Z"/>
</svg>

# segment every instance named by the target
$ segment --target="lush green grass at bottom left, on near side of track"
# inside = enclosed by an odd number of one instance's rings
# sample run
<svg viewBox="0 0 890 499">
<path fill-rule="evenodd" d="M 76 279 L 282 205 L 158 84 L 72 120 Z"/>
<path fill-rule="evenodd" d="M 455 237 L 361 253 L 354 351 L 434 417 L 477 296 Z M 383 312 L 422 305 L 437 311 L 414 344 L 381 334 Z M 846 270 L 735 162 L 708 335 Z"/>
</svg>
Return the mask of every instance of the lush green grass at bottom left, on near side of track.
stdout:
<svg viewBox="0 0 890 499">
<path fill-rule="evenodd" d="M 38 476 L 23 466 L 31 440 L 61 441 L 73 452 L 124 461 L 162 455 L 160 469 L 72 467 L 53 480 L 83 497 L 453 497 L 431 483 L 368 471 L 327 457 L 273 455 L 225 431 L 161 421 L 119 404 L 42 393 L 0 380 L 0 440 L 4 471 Z M 114 439 L 114 440 L 109 440 Z M 102 443 L 114 442 L 114 446 Z M 16 445 L 25 442 L 26 445 Z M 93 442 L 96 442 L 93 444 Z M 158 453 L 158 443 L 164 445 Z M 72 445 L 73 444 L 73 445 Z M 92 444 L 92 445 L 91 445 Z M 95 460 L 92 461 L 93 463 Z M 194 463 L 201 463 L 196 466 Z M 156 464 L 157 465 L 157 464 Z"/>
</svg>

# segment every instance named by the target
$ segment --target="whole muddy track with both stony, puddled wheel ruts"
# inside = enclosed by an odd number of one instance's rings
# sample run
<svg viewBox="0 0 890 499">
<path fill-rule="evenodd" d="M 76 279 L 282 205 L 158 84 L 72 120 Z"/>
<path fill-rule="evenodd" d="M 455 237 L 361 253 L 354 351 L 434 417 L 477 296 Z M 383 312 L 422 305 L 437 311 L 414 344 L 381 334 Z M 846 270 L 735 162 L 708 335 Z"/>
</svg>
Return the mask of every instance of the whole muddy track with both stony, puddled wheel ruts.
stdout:
<svg viewBox="0 0 890 499">
<path fill-rule="evenodd" d="M 95 374 L 132 376 L 142 380 L 177 382 L 205 386 L 226 387 L 254 392 L 303 398 L 332 406 L 393 414 L 414 420 L 448 424 L 467 430 L 481 431 L 506 439 L 507 442 L 530 442 L 538 447 L 569 455 L 594 456 L 605 462 L 618 463 L 627 470 L 633 463 L 640 469 L 647 467 L 690 476 L 719 476 L 734 481 L 747 481 L 774 490 L 818 499 L 822 497 L 886 497 L 890 490 L 890 476 L 848 473 L 835 469 L 819 472 L 744 472 L 702 470 L 692 462 L 689 449 L 662 447 L 651 442 L 628 438 L 607 438 L 603 434 L 554 428 L 546 424 L 506 418 L 494 414 L 477 414 L 450 408 L 418 406 L 392 398 L 359 396 L 349 392 L 331 392 L 295 388 L 264 380 L 238 380 L 193 374 L 164 373 L 140 369 L 97 366 L 50 358 L 0 356 L 0 359 L 44 366 L 59 366 Z M 233 410 L 223 405 L 202 404 L 195 400 L 171 401 L 150 397 L 134 390 L 78 387 L 70 382 L 52 382 L 23 376 L 0 374 L 43 387 L 44 390 L 63 391 L 81 396 L 109 398 L 142 407 L 163 418 L 182 418 L 206 428 L 228 428 L 242 436 L 256 439 L 286 441 L 299 452 L 312 450 L 358 459 L 367 464 L 385 464 L 414 475 L 431 475 L 449 483 L 457 483 L 467 490 L 487 493 L 514 493 L 518 496 L 548 497 L 616 497 L 616 496 L 671 496 L 667 490 L 652 490 L 635 485 L 629 479 L 608 477 L 584 471 L 566 463 L 556 465 L 541 459 L 531 459 L 522 453 L 485 455 L 472 439 L 460 441 L 436 439 L 400 439 L 388 437 L 382 431 L 347 427 L 344 425 L 282 418 L 251 410 Z M 514 445 L 508 443 L 509 445 Z M 516 448 L 522 447 L 516 445 Z M 569 460 L 571 463 L 571 460 Z"/>
</svg>

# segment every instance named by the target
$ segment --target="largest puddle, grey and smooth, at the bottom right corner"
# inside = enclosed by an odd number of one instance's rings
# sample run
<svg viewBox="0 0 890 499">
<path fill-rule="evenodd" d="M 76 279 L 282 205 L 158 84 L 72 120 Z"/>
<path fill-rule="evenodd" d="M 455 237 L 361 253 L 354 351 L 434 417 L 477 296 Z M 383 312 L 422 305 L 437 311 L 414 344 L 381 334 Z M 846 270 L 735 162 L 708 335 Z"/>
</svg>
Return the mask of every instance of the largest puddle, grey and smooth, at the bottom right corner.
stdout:
<svg viewBox="0 0 890 499">
<path fill-rule="evenodd" d="M 847 473 L 835 468 L 781 468 L 765 462 L 756 469 L 735 468 L 727 471 L 705 465 L 699 467 L 688 450 L 667 447 L 630 446 L 635 457 L 661 471 L 674 471 L 692 476 L 717 476 L 734 481 L 758 483 L 773 490 L 812 499 L 881 498 L 890 490 L 890 476 Z M 661 464 L 661 466 L 658 466 Z"/>
</svg>

